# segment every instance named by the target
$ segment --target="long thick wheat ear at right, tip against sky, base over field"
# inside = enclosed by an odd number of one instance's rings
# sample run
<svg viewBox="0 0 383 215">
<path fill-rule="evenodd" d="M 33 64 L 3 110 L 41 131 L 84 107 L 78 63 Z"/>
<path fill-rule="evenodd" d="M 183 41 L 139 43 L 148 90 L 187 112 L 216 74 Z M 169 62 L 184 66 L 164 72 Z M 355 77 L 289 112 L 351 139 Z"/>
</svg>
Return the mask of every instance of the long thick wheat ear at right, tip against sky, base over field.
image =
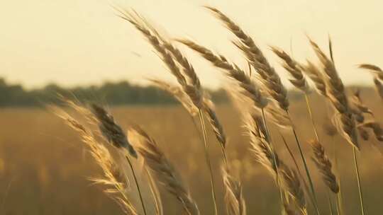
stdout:
<svg viewBox="0 0 383 215">
<path fill-rule="evenodd" d="M 337 110 L 338 114 L 335 115 L 337 118 L 337 126 L 339 133 L 350 143 L 352 146 L 359 149 L 359 144 L 357 141 L 357 130 L 355 125 L 355 120 L 353 118 L 353 112 L 350 110 L 348 104 L 348 98 L 345 95 L 345 87 L 343 86 L 342 80 L 338 76 L 338 72 L 335 69 L 335 65 L 328 59 L 326 54 L 324 54 L 321 48 L 310 40 L 311 47 L 316 53 L 316 56 L 320 60 L 323 71 L 324 78 L 326 83 L 326 95 L 331 100 L 333 107 Z"/>
</svg>

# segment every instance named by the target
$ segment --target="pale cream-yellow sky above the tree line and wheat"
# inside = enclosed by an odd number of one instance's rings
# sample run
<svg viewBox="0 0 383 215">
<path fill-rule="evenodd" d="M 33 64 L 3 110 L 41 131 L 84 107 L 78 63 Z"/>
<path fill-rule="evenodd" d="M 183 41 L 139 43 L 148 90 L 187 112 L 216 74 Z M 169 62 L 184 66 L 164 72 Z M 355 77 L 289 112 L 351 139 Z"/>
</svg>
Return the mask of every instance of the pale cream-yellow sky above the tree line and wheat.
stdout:
<svg viewBox="0 0 383 215">
<path fill-rule="evenodd" d="M 233 35 L 202 5 L 233 18 L 265 51 L 283 79 L 286 71 L 268 50 L 276 45 L 302 61 L 313 58 L 305 33 L 327 52 L 331 34 L 335 63 L 345 83 L 371 83 L 356 64 L 383 66 L 383 1 L 366 0 L 12 0 L 0 4 L 0 77 L 28 88 L 48 82 L 63 86 L 148 76 L 172 80 L 152 47 L 110 4 L 134 8 L 172 37 L 187 37 L 216 50 L 240 66 Z M 179 46 L 182 47 L 182 46 Z M 222 76 L 185 49 L 205 86 Z"/>
</svg>

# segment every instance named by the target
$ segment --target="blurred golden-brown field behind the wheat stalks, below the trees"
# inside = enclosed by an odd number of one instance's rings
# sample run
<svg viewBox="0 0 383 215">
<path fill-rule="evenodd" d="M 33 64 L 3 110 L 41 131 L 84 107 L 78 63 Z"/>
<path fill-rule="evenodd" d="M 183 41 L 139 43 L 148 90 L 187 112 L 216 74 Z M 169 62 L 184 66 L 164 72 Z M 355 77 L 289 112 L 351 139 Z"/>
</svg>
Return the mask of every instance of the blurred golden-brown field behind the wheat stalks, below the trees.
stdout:
<svg viewBox="0 0 383 215">
<path fill-rule="evenodd" d="M 352 150 L 340 136 L 331 139 L 323 133 L 321 125 L 326 120 L 326 101 L 315 93 L 311 98 L 313 114 L 326 151 L 331 156 L 334 147 L 338 147 L 338 177 L 345 214 L 359 214 Z M 382 122 L 383 104 L 377 95 L 372 91 L 362 91 L 362 99 L 373 110 L 378 122 Z M 124 129 L 131 123 L 140 124 L 157 140 L 189 185 L 200 211 L 213 214 L 203 145 L 187 112 L 181 106 L 114 107 L 110 110 Z M 304 100 L 292 101 L 291 112 L 299 139 L 304 143 L 319 194 L 318 202 L 322 211 L 329 214 L 326 187 L 309 158 L 311 147 L 306 142 L 313 139 L 313 131 Z M 219 106 L 217 113 L 228 136 L 228 159 L 235 175 L 243 182 L 248 214 L 279 214 L 274 180 L 250 155 L 240 115 L 231 105 Z M 89 177 L 101 175 L 102 172 L 89 156 L 79 135 L 57 116 L 38 108 L 5 108 L 0 109 L 0 119 L 0 214 L 123 214 L 118 204 L 103 193 L 102 186 L 92 185 L 89 181 Z M 284 161 L 292 163 L 277 129 L 272 127 L 271 132 L 279 154 Z M 291 132 L 283 131 L 283 135 L 297 153 Z M 221 149 L 211 130 L 209 145 L 218 187 L 219 211 L 223 214 L 222 182 L 218 176 L 221 173 Z M 370 141 L 363 141 L 361 145 L 359 158 L 365 209 L 368 214 L 380 214 L 383 165 L 379 146 L 382 144 L 371 134 Z M 301 161 L 298 156 L 297 160 Z M 162 194 L 165 214 L 181 211 L 174 197 L 167 192 Z"/>
</svg>

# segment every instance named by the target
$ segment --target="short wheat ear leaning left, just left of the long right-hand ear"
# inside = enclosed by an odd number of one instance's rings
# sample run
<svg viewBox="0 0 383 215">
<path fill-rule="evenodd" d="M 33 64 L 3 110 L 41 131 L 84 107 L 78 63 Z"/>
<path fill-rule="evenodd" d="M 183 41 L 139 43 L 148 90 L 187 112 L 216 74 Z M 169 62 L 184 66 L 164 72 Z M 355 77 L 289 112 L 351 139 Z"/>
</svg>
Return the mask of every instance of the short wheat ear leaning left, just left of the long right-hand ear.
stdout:
<svg viewBox="0 0 383 215">
<path fill-rule="evenodd" d="M 292 75 L 293 79 L 289 79 L 289 81 L 299 90 L 303 91 L 304 93 L 309 93 L 309 85 L 307 84 L 307 81 L 303 75 L 303 72 L 301 71 L 302 66 L 296 62 L 292 57 L 289 56 L 286 52 L 283 50 L 277 48 L 277 47 L 271 47 L 272 52 L 274 54 L 277 54 L 277 56 L 282 59 L 282 66 L 284 69 L 286 69 L 289 74 Z"/>
</svg>

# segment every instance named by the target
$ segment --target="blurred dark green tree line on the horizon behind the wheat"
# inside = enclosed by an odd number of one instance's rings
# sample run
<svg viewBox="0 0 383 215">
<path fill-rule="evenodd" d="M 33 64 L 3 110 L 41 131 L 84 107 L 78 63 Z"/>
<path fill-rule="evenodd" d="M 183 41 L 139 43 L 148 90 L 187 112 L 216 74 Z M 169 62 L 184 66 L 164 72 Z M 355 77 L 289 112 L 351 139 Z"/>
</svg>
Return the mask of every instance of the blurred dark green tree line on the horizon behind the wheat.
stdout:
<svg viewBox="0 0 383 215">
<path fill-rule="evenodd" d="M 225 91 L 210 91 L 216 103 L 226 102 Z M 78 100 L 93 100 L 108 105 L 155 105 L 174 104 L 176 100 L 155 86 L 137 86 L 128 81 L 105 82 L 101 86 L 78 86 L 64 88 L 50 83 L 43 88 L 26 90 L 20 84 L 7 83 L 0 78 L 0 107 L 42 106 L 60 103 L 58 95 Z"/>
</svg>

